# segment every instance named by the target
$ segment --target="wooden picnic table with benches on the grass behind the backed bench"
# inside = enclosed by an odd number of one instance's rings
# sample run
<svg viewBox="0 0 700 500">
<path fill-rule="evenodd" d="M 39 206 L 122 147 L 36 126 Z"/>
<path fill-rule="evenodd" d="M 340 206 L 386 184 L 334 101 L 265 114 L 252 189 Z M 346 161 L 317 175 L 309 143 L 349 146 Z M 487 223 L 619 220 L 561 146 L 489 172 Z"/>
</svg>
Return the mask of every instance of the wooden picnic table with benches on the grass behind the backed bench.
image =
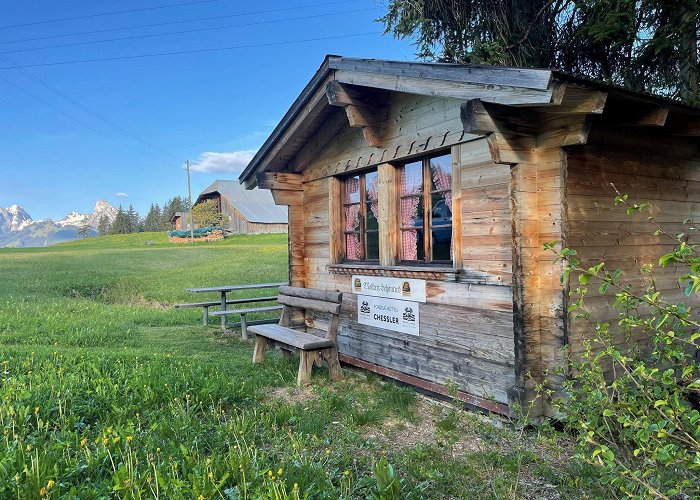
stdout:
<svg viewBox="0 0 700 500">
<path fill-rule="evenodd" d="M 246 298 L 239 298 L 239 299 L 227 299 L 226 295 L 229 292 L 235 292 L 239 290 L 257 290 L 257 289 L 265 289 L 265 288 L 277 288 L 281 285 L 286 285 L 286 283 L 254 283 L 254 284 L 249 284 L 249 285 L 224 285 L 224 286 L 212 286 L 212 287 L 202 287 L 202 288 L 188 288 L 188 292 L 193 292 L 193 293 L 219 293 L 220 294 L 220 300 L 218 301 L 204 301 L 204 302 L 191 302 L 191 303 L 185 303 L 185 304 L 175 304 L 174 307 L 176 308 L 187 308 L 187 307 L 202 307 L 204 309 L 203 313 L 203 318 L 202 322 L 204 325 L 208 324 L 209 322 L 209 316 L 220 316 L 221 317 L 221 331 L 226 332 L 226 329 L 228 326 L 239 326 L 238 323 L 234 324 L 227 324 L 226 322 L 226 317 L 227 315 L 230 314 L 240 314 L 241 312 L 243 315 L 241 316 L 241 329 L 242 333 L 244 335 L 244 338 L 247 338 L 247 332 L 246 328 L 247 325 L 253 325 L 253 324 L 267 324 L 271 322 L 276 322 L 276 319 L 263 319 L 263 320 L 256 320 L 253 322 L 246 322 L 245 315 L 249 313 L 254 313 L 254 312 L 263 312 L 263 311 L 273 311 L 273 310 L 279 310 L 282 309 L 282 306 L 274 305 L 274 306 L 259 306 L 259 307 L 248 307 L 248 308 L 239 308 L 239 309 L 227 309 L 227 305 L 233 305 L 233 304 L 253 304 L 253 303 L 258 303 L 258 302 L 271 302 L 277 299 L 276 296 L 269 296 L 269 297 L 246 297 Z M 209 312 L 210 307 L 220 307 L 220 311 L 215 311 L 215 312 Z"/>
</svg>

